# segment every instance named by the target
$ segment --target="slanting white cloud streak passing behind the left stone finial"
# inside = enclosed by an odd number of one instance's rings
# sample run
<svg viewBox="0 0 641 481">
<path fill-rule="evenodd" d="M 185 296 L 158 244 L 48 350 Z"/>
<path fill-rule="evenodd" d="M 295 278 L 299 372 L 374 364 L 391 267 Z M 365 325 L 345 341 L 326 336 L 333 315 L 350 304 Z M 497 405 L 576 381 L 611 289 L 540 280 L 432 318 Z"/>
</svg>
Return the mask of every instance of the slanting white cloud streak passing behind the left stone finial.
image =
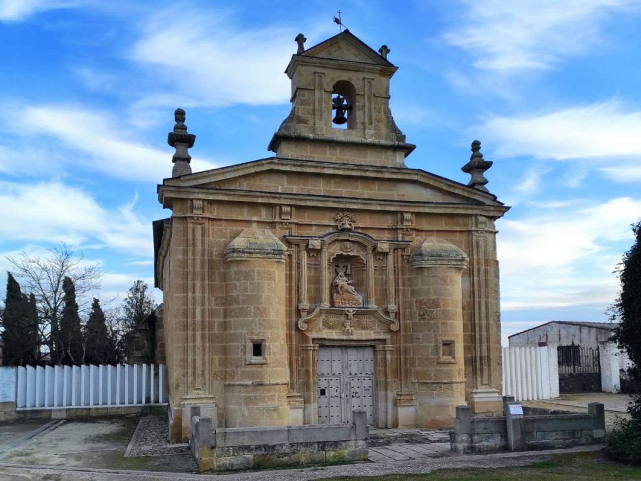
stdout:
<svg viewBox="0 0 641 481">
<path fill-rule="evenodd" d="M 16 115 L 8 121 L 8 126 L 22 135 L 22 155 L 29 158 L 29 162 L 35 160 L 42 164 L 47 158 L 52 158 L 52 155 L 40 156 L 38 149 L 31 148 L 45 137 L 54 139 L 58 147 L 67 151 L 63 155 L 58 149 L 51 149 L 56 152 L 55 158 L 51 159 L 56 162 L 49 165 L 52 171 L 59 171 L 62 160 L 127 180 L 160 182 L 162 178 L 171 176 L 172 149 L 169 146 L 164 150 L 146 146 L 127 124 L 119 122 L 112 114 L 75 105 L 24 105 L 12 111 Z M 168 120 L 171 121 L 171 117 Z M 173 122 L 168 124 L 169 130 Z M 6 148 L 0 150 L 2 168 L 9 171 L 21 169 L 9 160 L 3 161 L 9 153 Z M 15 156 L 15 152 L 12 155 Z M 194 172 L 214 167 L 206 160 L 192 159 Z"/>
</svg>

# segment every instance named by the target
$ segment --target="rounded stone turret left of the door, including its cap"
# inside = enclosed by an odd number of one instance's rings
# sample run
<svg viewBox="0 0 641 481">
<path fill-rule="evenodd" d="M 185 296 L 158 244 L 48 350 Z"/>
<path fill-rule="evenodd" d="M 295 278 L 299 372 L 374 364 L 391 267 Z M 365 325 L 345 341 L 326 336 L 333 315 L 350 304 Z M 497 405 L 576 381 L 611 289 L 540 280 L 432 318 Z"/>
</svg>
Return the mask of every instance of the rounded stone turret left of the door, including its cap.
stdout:
<svg viewBox="0 0 641 481">
<path fill-rule="evenodd" d="M 225 427 L 287 425 L 286 253 L 266 229 L 225 249 Z"/>
</svg>

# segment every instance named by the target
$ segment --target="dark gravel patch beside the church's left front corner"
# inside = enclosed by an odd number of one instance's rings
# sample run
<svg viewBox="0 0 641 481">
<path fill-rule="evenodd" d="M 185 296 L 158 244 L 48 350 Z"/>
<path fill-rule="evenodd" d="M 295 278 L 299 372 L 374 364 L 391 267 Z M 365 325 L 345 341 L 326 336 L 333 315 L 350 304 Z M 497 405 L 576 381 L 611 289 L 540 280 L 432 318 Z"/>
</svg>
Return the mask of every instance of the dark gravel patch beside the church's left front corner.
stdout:
<svg viewBox="0 0 641 481">
<path fill-rule="evenodd" d="M 167 418 L 156 414 L 141 416 L 129 441 L 125 457 L 189 454 L 188 444 L 169 444 Z"/>
</svg>

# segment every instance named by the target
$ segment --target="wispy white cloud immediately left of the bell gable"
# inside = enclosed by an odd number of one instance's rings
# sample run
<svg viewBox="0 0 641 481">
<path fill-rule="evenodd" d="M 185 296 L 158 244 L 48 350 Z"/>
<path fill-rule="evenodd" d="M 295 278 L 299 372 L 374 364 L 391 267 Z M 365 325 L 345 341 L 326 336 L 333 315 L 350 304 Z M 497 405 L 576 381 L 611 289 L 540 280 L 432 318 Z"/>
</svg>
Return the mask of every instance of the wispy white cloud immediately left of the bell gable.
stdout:
<svg viewBox="0 0 641 481">
<path fill-rule="evenodd" d="M 296 52 L 290 28 L 233 28 L 219 11 L 163 12 L 144 24 L 131 56 L 154 65 L 171 96 L 150 92 L 137 106 L 227 106 L 287 103 L 290 85 L 283 69 Z M 292 33 L 293 32 L 293 33 Z M 169 90 L 169 89 L 168 89 Z"/>
</svg>

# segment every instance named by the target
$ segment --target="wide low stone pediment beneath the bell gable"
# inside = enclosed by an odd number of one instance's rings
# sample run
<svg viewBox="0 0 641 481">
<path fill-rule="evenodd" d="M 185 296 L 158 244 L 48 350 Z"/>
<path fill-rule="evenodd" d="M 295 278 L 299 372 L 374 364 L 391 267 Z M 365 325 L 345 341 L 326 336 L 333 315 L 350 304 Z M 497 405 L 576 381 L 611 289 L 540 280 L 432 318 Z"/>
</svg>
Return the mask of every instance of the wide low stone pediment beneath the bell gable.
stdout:
<svg viewBox="0 0 641 481">
<path fill-rule="evenodd" d="M 502 206 L 488 192 L 419 169 L 267 158 L 165 179 L 164 185 L 410 201 Z"/>
</svg>

